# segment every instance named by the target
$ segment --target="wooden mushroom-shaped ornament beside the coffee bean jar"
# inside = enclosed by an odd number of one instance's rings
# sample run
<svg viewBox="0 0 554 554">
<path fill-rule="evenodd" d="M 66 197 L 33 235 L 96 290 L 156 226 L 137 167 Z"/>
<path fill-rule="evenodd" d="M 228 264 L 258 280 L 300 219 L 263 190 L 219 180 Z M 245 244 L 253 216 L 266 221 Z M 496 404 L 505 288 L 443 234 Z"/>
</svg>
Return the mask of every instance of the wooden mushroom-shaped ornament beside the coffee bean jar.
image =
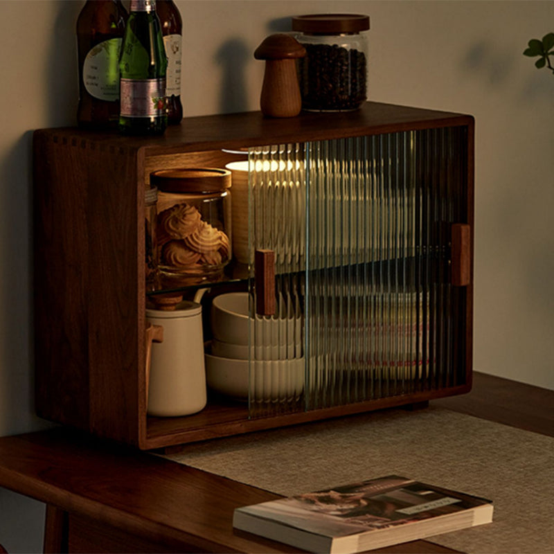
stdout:
<svg viewBox="0 0 554 554">
<path fill-rule="evenodd" d="M 256 60 L 265 60 L 260 96 L 262 114 L 269 117 L 294 117 L 300 113 L 302 98 L 296 59 L 305 55 L 304 46 L 285 33 L 269 35 L 256 48 Z"/>
</svg>

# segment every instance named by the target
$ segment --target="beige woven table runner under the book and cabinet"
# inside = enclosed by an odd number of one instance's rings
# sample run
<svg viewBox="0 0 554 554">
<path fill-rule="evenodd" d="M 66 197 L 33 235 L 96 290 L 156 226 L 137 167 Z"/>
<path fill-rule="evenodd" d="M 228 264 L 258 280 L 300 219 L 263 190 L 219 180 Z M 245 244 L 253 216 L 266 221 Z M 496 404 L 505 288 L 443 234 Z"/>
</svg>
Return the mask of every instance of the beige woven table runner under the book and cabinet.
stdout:
<svg viewBox="0 0 554 554">
<path fill-rule="evenodd" d="M 494 503 L 492 524 L 432 542 L 470 554 L 554 553 L 554 438 L 435 406 L 211 440 L 163 457 L 285 496 L 402 475 Z"/>
</svg>

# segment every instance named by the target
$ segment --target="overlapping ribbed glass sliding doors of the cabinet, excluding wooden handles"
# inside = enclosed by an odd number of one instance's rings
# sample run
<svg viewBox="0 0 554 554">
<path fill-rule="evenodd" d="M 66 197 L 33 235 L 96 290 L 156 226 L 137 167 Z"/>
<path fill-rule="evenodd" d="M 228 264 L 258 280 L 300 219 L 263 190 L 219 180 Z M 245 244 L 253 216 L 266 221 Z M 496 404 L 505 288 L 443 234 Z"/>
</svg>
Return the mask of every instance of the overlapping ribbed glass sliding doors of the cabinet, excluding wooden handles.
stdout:
<svg viewBox="0 0 554 554">
<path fill-rule="evenodd" d="M 465 375 L 463 127 L 249 152 L 249 260 L 275 256 L 276 310 L 251 333 L 250 413 L 428 391 Z M 253 306 L 254 307 L 254 306 Z"/>
</svg>

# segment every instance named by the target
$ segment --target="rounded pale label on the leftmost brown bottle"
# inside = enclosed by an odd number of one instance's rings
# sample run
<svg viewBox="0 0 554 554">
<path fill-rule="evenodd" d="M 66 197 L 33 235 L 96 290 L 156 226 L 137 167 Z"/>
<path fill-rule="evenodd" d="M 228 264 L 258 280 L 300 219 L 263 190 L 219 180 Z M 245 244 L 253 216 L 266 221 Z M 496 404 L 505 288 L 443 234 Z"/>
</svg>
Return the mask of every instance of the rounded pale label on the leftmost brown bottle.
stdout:
<svg viewBox="0 0 554 554">
<path fill-rule="evenodd" d="M 98 98 L 114 102 L 119 99 L 119 52 L 122 38 L 96 44 L 82 64 L 82 80 L 87 92 Z"/>
</svg>

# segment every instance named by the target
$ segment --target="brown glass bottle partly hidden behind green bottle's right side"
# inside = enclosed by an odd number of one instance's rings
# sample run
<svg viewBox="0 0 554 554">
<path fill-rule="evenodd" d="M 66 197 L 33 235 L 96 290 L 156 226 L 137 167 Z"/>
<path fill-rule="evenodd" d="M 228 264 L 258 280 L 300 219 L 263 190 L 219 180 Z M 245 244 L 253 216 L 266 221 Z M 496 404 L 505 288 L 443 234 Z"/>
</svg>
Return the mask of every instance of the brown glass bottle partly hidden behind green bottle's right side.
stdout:
<svg viewBox="0 0 554 554">
<path fill-rule="evenodd" d="M 181 105 L 181 43 L 183 24 L 181 15 L 173 0 L 157 0 L 156 12 L 160 18 L 163 44 L 168 57 L 166 93 L 168 123 L 177 125 L 183 118 Z"/>
</svg>

